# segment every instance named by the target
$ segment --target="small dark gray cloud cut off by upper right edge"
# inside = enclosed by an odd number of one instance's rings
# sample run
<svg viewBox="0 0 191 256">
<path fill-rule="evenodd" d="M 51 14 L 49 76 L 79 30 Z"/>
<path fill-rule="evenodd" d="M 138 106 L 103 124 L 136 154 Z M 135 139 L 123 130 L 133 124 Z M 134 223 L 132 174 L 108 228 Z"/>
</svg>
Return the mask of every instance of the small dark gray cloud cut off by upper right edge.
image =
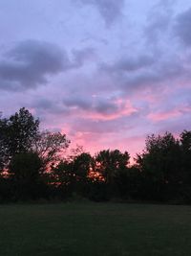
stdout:
<svg viewBox="0 0 191 256">
<path fill-rule="evenodd" d="M 175 34 L 187 46 L 191 46 L 191 8 L 176 17 Z"/>
</svg>

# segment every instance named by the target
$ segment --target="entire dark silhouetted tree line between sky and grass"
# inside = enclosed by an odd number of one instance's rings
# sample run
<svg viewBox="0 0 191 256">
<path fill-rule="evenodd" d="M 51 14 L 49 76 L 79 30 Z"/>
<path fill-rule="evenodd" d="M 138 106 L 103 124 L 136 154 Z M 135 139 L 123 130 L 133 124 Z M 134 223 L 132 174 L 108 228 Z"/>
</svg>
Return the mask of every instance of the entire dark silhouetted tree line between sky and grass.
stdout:
<svg viewBox="0 0 191 256">
<path fill-rule="evenodd" d="M 191 130 L 149 135 L 130 165 L 125 151 L 66 153 L 66 134 L 40 130 L 25 107 L 0 116 L 0 201 L 66 200 L 191 202 Z"/>
</svg>

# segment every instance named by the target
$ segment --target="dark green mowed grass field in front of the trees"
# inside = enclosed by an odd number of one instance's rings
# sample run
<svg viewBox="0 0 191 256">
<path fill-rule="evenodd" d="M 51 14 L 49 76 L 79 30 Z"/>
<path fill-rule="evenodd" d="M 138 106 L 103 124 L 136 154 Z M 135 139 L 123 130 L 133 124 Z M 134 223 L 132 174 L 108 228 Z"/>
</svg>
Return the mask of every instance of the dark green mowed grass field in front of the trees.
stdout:
<svg viewBox="0 0 191 256">
<path fill-rule="evenodd" d="M 0 206 L 1 256 L 189 256 L 191 207 L 63 203 Z"/>
</svg>

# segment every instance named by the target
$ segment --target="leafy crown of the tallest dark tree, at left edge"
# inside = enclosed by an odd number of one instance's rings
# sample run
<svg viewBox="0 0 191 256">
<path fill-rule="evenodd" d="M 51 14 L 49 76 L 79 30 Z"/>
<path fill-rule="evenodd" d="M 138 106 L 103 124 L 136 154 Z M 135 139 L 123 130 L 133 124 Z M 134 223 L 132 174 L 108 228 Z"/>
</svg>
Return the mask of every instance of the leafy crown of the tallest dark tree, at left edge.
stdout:
<svg viewBox="0 0 191 256">
<path fill-rule="evenodd" d="M 0 119 L 0 170 L 8 168 L 15 154 L 32 151 L 38 130 L 39 121 L 24 107 L 10 118 Z"/>
</svg>

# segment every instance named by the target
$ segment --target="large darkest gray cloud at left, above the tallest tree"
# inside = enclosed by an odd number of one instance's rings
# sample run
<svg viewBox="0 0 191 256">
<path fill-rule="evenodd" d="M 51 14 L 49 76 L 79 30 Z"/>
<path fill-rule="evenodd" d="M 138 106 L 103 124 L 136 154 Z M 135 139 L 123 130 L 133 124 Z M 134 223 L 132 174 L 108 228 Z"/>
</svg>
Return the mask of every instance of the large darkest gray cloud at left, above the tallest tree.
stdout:
<svg viewBox="0 0 191 256">
<path fill-rule="evenodd" d="M 0 89 L 19 91 L 35 88 L 46 83 L 48 76 L 80 67 L 93 51 L 92 48 L 74 51 L 72 61 L 55 44 L 23 41 L 0 60 Z"/>
</svg>

